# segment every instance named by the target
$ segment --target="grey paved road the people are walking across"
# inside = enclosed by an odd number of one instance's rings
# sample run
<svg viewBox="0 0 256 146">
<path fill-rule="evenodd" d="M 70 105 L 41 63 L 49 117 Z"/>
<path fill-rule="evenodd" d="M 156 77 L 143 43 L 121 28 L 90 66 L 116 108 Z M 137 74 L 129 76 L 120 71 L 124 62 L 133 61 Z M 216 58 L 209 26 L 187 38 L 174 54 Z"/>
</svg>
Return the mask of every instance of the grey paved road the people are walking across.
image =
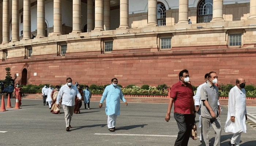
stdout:
<svg viewBox="0 0 256 146">
<path fill-rule="evenodd" d="M 7 103 L 5 99 L 5 104 Z M 15 99 L 11 99 L 12 106 Z M 83 107 L 83 106 L 82 106 Z M 105 103 L 103 104 L 105 107 Z M 22 100 L 21 109 L 6 108 L 0 112 L 0 146 L 172 146 L 178 128 L 171 114 L 170 122 L 164 117 L 167 104 L 128 103 L 121 104 L 121 115 L 117 118 L 117 131 L 108 131 L 105 108 L 91 102 L 91 110 L 81 108 L 74 114 L 70 132 L 65 131 L 64 112 L 54 115 L 41 100 Z M 224 127 L 227 109 L 222 111 Z M 196 118 L 198 124 L 198 117 Z M 200 129 L 198 129 L 200 131 Z M 247 124 L 247 133 L 241 137 L 241 146 L 255 146 L 256 130 Z M 228 146 L 232 133 L 222 130 L 221 145 Z M 214 131 L 210 131 L 210 144 L 214 142 Z M 200 146 L 199 140 L 189 140 L 189 146 Z"/>
</svg>

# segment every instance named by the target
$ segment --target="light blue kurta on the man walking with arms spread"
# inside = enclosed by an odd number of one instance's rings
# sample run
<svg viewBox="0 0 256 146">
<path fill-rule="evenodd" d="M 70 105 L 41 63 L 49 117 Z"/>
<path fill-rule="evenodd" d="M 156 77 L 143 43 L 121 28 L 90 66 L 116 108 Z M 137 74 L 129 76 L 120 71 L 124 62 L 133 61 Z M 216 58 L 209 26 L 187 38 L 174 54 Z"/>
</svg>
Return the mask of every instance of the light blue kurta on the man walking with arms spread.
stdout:
<svg viewBox="0 0 256 146">
<path fill-rule="evenodd" d="M 120 115 L 120 99 L 126 102 L 120 87 L 108 85 L 101 97 L 100 103 L 106 99 L 106 115 Z"/>
</svg>

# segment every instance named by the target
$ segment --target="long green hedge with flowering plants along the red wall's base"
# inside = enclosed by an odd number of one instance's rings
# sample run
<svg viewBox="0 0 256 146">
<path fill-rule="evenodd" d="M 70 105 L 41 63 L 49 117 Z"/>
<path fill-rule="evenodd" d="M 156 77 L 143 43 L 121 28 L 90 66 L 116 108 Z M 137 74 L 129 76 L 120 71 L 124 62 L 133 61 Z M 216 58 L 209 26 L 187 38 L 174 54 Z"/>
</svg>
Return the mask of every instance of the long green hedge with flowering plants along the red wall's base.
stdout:
<svg viewBox="0 0 256 146">
<path fill-rule="evenodd" d="M 108 86 L 109 84 L 106 85 L 96 85 L 92 84 L 90 85 L 89 89 L 92 94 L 102 94 L 105 87 Z M 61 86 L 61 85 L 60 85 Z M 85 88 L 86 85 L 80 84 L 80 87 L 83 89 Z M 166 84 L 158 85 L 157 87 L 152 87 L 150 85 L 143 85 L 142 87 L 136 86 L 136 85 L 127 85 L 126 87 L 122 87 L 122 85 L 118 84 L 119 87 L 122 88 L 122 91 L 124 95 L 162 95 L 162 96 L 167 96 L 168 95 L 168 86 Z M 23 89 L 24 93 L 41 93 L 42 88 L 44 85 L 22 85 L 21 86 Z M 49 85 L 47 85 L 49 87 Z M 192 86 L 194 92 L 196 93 L 196 88 L 195 86 Z M 231 88 L 233 88 L 234 85 L 232 84 L 221 84 L 219 85 L 219 96 L 220 97 L 228 97 L 229 96 L 229 91 Z M 54 88 L 54 86 L 53 86 Z M 256 87 L 255 85 L 246 85 L 245 90 L 246 90 L 246 97 L 256 97 Z"/>
</svg>

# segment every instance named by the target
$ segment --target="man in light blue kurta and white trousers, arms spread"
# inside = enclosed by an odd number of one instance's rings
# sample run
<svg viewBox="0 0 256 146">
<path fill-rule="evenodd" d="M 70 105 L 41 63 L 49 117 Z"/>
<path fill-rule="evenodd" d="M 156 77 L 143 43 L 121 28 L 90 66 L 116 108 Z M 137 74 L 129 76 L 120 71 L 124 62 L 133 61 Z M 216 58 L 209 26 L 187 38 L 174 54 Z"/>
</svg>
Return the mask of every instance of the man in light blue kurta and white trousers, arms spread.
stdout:
<svg viewBox="0 0 256 146">
<path fill-rule="evenodd" d="M 116 130 L 116 118 L 120 115 L 120 99 L 124 102 L 124 105 L 128 105 L 124 94 L 120 87 L 117 86 L 117 78 L 112 78 L 112 84 L 108 85 L 99 102 L 99 108 L 102 108 L 102 103 L 106 99 L 106 115 L 108 115 L 108 128 L 109 131 L 114 132 Z"/>
</svg>

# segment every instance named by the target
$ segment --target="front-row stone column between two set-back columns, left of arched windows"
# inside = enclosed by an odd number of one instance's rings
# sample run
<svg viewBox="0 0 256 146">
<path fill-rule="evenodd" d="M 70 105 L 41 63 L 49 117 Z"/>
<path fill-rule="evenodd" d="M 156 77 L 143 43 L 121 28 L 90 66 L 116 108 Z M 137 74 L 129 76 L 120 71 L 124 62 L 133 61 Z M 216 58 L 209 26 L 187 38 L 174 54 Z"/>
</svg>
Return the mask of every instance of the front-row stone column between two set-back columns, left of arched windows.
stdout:
<svg viewBox="0 0 256 146">
<path fill-rule="evenodd" d="M 103 0 L 95 0 L 95 28 L 94 30 L 103 29 Z"/>
</svg>

